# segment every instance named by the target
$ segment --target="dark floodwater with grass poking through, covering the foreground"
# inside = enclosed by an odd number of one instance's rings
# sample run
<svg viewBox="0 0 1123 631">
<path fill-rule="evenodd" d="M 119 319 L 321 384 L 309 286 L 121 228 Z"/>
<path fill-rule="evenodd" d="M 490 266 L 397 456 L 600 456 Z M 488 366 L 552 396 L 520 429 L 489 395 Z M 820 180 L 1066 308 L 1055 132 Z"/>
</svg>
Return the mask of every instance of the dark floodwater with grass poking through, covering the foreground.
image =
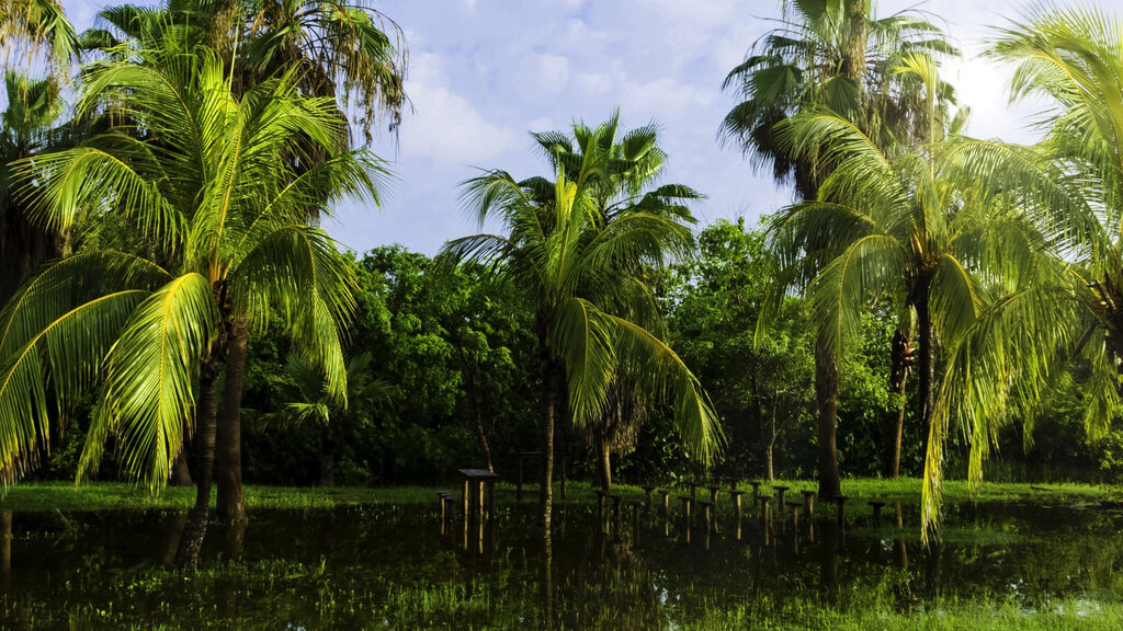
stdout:
<svg viewBox="0 0 1123 631">
<path fill-rule="evenodd" d="M 678 629 L 746 603 L 1094 610 L 1123 588 L 1119 510 L 952 506 L 943 542 L 924 548 L 915 506 L 885 506 L 876 528 L 858 509 L 841 530 L 833 506 L 766 528 L 722 501 L 710 528 L 695 506 L 687 529 L 673 505 L 637 529 L 628 505 L 569 504 L 548 552 L 530 501 L 483 523 L 442 523 L 436 502 L 256 511 L 211 527 L 194 575 L 165 569 L 182 514 L 2 513 L 0 628 Z"/>
</svg>

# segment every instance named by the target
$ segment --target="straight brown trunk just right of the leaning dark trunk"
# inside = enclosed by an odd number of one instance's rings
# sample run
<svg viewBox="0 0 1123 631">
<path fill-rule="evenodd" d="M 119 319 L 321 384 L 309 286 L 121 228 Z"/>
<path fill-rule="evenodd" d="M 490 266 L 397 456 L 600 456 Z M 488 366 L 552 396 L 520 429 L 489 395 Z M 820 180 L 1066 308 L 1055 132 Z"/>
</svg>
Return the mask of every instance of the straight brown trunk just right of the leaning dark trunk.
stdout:
<svg viewBox="0 0 1123 631">
<path fill-rule="evenodd" d="M 218 518 L 246 519 L 241 494 L 241 387 L 246 377 L 246 319 L 229 323 L 226 346 L 226 390 L 222 392 L 222 429 L 218 435 Z"/>
</svg>

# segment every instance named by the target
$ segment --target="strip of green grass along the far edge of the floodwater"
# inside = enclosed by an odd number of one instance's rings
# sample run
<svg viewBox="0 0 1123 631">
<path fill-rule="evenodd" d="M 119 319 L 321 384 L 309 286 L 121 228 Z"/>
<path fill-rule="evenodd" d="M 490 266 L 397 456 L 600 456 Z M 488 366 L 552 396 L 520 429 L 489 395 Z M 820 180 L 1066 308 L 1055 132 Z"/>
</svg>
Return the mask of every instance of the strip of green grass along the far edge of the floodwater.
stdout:
<svg viewBox="0 0 1123 631">
<path fill-rule="evenodd" d="M 772 493 L 773 487 L 786 485 L 792 488 L 789 496 L 798 499 L 798 491 L 814 490 L 811 481 L 776 481 L 761 486 L 761 492 Z M 727 485 L 722 485 L 725 487 Z M 748 483 L 738 485 L 748 490 Z M 1042 490 L 1043 488 L 1043 490 Z M 281 487 L 281 486 L 247 486 L 246 504 L 254 509 L 328 509 L 335 506 L 362 504 L 417 504 L 436 502 L 438 490 L 457 492 L 456 485 L 442 486 L 390 486 L 390 487 Z M 500 492 L 504 496 L 513 493 L 513 485 L 501 484 Z M 848 504 L 848 512 L 862 514 L 869 509 L 866 502 L 871 499 L 888 502 L 920 501 L 921 482 L 916 478 L 901 479 L 846 479 L 842 492 L 853 501 Z M 524 493 L 533 496 L 535 485 L 528 485 Z M 615 493 L 627 497 L 641 497 L 643 491 L 637 486 L 620 485 Z M 675 490 L 675 494 L 681 493 Z M 699 493 L 705 494 L 704 488 Z M 0 499 L 0 509 L 15 511 L 112 511 L 112 510 L 183 510 L 194 502 L 193 487 L 168 487 L 158 496 L 150 496 L 146 491 L 122 483 L 90 483 L 82 486 L 62 482 L 37 482 L 18 484 L 8 488 Z M 560 501 L 558 491 L 555 497 Z M 595 490 L 578 482 L 569 483 L 568 502 L 592 502 Z M 944 504 L 964 502 L 980 503 L 1014 503 L 1014 502 L 1074 502 L 1096 503 L 1123 500 L 1123 490 L 1119 486 L 1089 484 L 1050 484 L 1030 485 L 1011 483 L 984 483 L 977 492 L 971 492 L 966 482 L 948 481 L 944 483 Z"/>
</svg>

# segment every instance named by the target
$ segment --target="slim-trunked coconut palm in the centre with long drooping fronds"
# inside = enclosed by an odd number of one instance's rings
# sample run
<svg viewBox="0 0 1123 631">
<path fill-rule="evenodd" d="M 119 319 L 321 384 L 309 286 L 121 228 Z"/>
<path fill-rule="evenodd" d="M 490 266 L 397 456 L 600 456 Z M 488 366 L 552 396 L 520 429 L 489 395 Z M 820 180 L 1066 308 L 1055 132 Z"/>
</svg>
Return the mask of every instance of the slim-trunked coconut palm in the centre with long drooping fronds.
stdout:
<svg viewBox="0 0 1123 631">
<path fill-rule="evenodd" d="M 719 441 L 716 417 L 694 375 L 659 336 L 658 305 L 640 271 L 661 265 L 668 255 L 685 254 L 690 228 L 660 212 L 657 192 L 642 204 L 610 220 L 599 192 L 608 177 L 610 155 L 593 130 L 577 177 L 567 175 L 560 155 L 547 194 L 544 179 L 515 181 L 503 171 L 465 183 L 465 203 L 481 223 L 496 216 L 504 235 L 475 235 L 446 249 L 456 257 L 487 262 L 527 293 L 535 305 L 542 386 L 541 509 L 547 538 L 553 503 L 555 419 L 565 405 L 576 427 L 602 412 L 613 377 L 636 379 L 645 393 L 674 395 L 678 431 L 694 455 L 709 461 Z M 609 143 L 608 145 L 611 145 Z M 564 399 L 564 401 L 563 401 Z M 548 541 L 548 539 L 547 539 Z"/>
</svg>

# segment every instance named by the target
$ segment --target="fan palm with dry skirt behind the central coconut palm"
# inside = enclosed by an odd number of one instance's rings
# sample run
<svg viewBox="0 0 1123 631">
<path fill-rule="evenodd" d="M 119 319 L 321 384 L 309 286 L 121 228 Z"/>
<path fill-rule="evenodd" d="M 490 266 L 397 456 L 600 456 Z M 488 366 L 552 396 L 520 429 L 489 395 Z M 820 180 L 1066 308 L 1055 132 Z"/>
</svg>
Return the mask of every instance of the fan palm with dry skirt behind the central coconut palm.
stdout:
<svg viewBox="0 0 1123 631">
<path fill-rule="evenodd" d="M 657 185 L 667 164 L 667 154 L 659 145 L 658 126 L 654 122 L 622 131 L 620 110 L 613 110 L 608 120 L 590 127 L 575 122 L 569 132 L 546 131 L 531 134 L 555 171 L 563 171 L 570 180 L 581 177 L 584 156 L 591 152 L 603 157 L 602 173 L 593 180 L 593 203 L 601 216 L 600 229 L 606 229 L 630 212 L 642 210 L 665 214 L 674 220 L 693 222 L 686 205 L 702 198 L 682 184 Z M 539 202 L 549 203 L 553 183 L 546 179 L 531 179 L 528 186 L 536 191 Z M 642 276 L 640 260 L 631 273 Z M 666 331 L 652 330 L 660 338 Z M 639 427 L 647 420 L 647 401 L 642 390 L 623 373 L 612 378 L 609 395 L 601 413 L 583 428 L 586 442 L 596 455 L 596 470 L 604 491 L 611 486 L 613 450 L 627 448 L 634 440 Z"/>
</svg>

